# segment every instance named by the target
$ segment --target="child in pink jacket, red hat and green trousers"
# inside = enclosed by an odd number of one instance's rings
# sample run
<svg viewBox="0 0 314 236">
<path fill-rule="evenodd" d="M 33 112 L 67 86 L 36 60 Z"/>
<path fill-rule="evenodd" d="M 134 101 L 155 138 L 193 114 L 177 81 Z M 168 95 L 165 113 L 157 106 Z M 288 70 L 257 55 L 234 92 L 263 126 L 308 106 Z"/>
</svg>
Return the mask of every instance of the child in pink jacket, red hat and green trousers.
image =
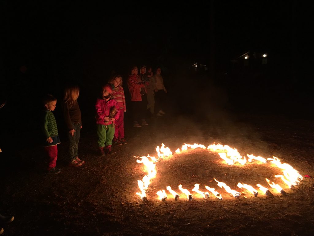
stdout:
<svg viewBox="0 0 314 236">
<path fill-rule="evenodd" d="M 114 121 L 119 118 L 120 108 L 111 97 L 112 87 L 106 84 L 102 87 L 101 97 L 96 101 L 96 124 L 100 155 L 111 154 L 111 145 L 115 133 Z M 105 147 L 105 150 L 104 150 Z"/>
</svg>

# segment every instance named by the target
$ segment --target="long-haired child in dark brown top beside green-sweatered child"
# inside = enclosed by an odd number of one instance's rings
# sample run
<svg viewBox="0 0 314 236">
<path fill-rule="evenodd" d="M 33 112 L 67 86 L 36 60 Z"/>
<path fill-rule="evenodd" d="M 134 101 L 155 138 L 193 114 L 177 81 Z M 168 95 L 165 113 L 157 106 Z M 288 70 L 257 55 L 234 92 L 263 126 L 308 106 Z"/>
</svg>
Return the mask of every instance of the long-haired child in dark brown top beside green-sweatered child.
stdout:
<svg viewBox="0 0 314 236">
<path fill-rule="evenodd" d="M 77 102 L 78 95 L 78 86 L 68 86 L 64 90 L 63 115 L 68 128 L 68 136 L 70 140 L 69 166 L 73 167 L 82 166 L 82 164 L 85 163 L 84 160 L 78 158 L 78 142 L 82 128 L 81 110 L 79 109 Z"/>
</svg>

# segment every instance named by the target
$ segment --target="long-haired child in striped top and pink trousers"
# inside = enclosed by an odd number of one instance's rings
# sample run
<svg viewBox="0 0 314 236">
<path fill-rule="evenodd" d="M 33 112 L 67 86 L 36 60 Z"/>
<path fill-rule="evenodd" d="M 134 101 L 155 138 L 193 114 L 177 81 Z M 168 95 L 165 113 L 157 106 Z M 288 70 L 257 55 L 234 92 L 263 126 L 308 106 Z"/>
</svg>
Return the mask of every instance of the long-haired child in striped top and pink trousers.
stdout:
<svg viewBox="0 0 314 236">
<path fill-rule="evenodd" d="M 116 145 L 122 145 L 127 143 L 124 139 L 124 112 L 127 111 L 125 105 L 124 91 L 122 87 L 122 77 L 120 75 L 115 75 L 109 80 L 109 83 L 113 84 L 114 89 L 112 90 L 111 96 L 116 99 L 118 106 L 120 108 L 119 119 L 115 122 L 115 134 L 113 136 L 113 143 Z"/>
</svg>

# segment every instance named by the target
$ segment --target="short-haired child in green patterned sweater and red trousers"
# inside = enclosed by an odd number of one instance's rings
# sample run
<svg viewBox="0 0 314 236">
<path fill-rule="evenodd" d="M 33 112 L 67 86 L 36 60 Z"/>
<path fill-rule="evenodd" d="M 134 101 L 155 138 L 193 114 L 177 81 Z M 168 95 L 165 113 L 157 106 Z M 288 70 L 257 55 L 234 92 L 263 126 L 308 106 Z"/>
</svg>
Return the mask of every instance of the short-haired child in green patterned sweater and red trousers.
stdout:
<svg viewBox="0 0 314 236">
<path fill-rule="evenodd" d="M 42 111 L 42 131 L 45 136 L 46 142 L 44 148 L 49 156 L 48 172 L 58 174 L 61 172 L 60 168 L 56 168 L 58 149 L 57 144 L 60 143 L 58 136 L 58 128 L 55 116 L 51 111 L 56 109 L 57 98 L 54 98 L 51 94 L 47 94 L 43 99 L 45 110 Z"/>
</svg>

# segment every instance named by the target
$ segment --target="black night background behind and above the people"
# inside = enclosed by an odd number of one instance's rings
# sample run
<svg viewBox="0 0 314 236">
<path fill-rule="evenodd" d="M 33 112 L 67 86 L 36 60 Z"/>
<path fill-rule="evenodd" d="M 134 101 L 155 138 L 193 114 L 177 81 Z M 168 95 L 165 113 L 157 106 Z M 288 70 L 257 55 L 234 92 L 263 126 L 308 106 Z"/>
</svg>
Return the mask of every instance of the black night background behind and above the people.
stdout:
<svg viewBox="0 0 314 236">
<path fill-rule="evenodd" d="M 297 1 L 77 3 L 2 1 L 1 142 L 38 131 L 40 99 L 77 83 L 89 126 L 99 89 L 113 70 L 161 66 L 168 113 L 205 120 L 221 111 L 313 118 L 311 4 Z M 267 53 L 234 70 L 241 53 Z M 194 63 L 207 71 L 191 70 Z M 60 132 L 60 131 L 59 131 Z M 60 132 L 60 133 L 61 133 Z M 19 144 L 20 145 L 20 144 Z"/>
</svg>

